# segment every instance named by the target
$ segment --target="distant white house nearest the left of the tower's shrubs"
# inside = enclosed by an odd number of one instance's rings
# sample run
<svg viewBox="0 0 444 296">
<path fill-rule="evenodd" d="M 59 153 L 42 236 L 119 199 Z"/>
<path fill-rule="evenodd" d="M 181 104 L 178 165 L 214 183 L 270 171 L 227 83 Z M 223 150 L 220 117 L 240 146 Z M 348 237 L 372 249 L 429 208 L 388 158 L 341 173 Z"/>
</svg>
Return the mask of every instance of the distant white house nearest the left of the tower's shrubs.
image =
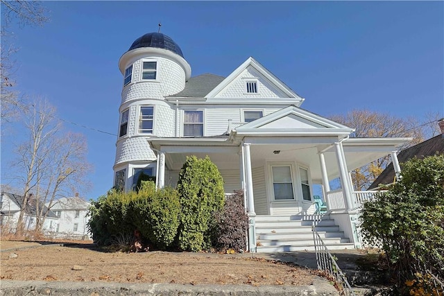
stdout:
<svg viewBox="0 0 444 296">
<path fill-rule="evenodd" d="M 87 229 L 89 206 L 89 202 L 78 196 L 56 200 L 51 206 L 51 211 L 58 217 L 58 221 L 55 225 L 51 225 L 49 234 L 66 238 L 89 238 Z"/>
</svg>

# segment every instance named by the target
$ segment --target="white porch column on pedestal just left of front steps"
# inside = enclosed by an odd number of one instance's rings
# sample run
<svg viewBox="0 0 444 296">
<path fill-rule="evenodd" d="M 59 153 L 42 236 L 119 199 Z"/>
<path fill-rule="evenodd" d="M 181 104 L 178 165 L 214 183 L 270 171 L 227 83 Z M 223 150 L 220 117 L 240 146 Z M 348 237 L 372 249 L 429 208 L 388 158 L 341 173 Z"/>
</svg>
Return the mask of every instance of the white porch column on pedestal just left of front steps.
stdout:
<svg viewBox="0 0 444 296">
<path fill-rule="evenodd" d="M 256 252 L 256 225 L 255 225 L 255 200 L 253 198 L 253 175 L 251 174 L 250 143 L 244 143 L 246 195 L 248 201 L 248 249 Z"/>
</svg>

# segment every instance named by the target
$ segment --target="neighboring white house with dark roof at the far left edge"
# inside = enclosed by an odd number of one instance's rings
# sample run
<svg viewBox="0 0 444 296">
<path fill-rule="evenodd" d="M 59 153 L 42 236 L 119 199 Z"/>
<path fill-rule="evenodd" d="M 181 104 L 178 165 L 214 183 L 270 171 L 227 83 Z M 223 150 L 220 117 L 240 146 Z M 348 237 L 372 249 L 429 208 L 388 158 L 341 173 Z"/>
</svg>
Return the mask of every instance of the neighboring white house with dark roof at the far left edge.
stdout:
<svg viewBox="0 0 444 296">
<path fill-rule="evenodd" d="M 24 202 L 23 196 L 1 192 L 1 211 L 0 211 L 0 225 L 1 230 L 6 232 L 15 232 L 17 228 L 17 221 L 19 220 L 20 209 Z M 28 205 L 25 208 L 24 213 L 24 225 L 25 230 L 34 230 L 35 229 L 35 219 L 37 213 L 35 200 L 30 198 L 28 201 Z M 43 223 L 42 231 L 46 232 L 51 229 L 53 225 L 57 224 L 58 217 L 53 214 L 52 211 L 42 204 L 41 202 L 38 204 L 38 211 L 43 209 L 43 213 L 48 213 Z"/>
</svg>

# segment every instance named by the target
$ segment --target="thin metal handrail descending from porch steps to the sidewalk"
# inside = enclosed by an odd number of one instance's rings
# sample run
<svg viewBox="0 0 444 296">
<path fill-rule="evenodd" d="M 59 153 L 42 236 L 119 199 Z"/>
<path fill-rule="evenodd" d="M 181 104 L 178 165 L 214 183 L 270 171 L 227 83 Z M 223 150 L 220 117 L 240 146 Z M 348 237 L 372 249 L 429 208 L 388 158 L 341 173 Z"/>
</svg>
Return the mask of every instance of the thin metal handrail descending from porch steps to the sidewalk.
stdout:
<svg viewBox="0 0 444 296">
<path fill-rule="evenodd" d="M 316 264 L 318 265 L 318 270 L 324 270 L 327 274 L 334 277 L 336 284 L 340 290 L 341 295 L 345 296 L 356 296 L 353 292 L 352 287 L 348 283 L 347 277 L 343 274 L 341 268 L 336 263 L 336 260 L 327 249 L 327 246 L 323 242 L 321 236 L 319 236 L 316 231 L 317 221 L 313 221 L 311 230 L 313 232 L 314 241 L 314 253 L 316 254 Z"/>
</svg>

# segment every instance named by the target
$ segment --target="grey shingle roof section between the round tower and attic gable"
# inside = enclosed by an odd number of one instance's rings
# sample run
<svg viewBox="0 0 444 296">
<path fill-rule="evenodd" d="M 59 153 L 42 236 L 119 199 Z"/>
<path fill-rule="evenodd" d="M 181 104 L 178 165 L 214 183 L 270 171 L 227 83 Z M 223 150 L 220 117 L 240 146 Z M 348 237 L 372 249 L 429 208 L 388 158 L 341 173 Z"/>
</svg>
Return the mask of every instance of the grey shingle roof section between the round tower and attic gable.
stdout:
<svg viewBox="0 0 444 296">
<path fill-rule="evenodd" d="M 173 94 L 169 97 L 178 98 L 204 98 L 209 94 L 214 87 L 219 85 L 225 77 L 205 73 L 199 76 L 191 77 L 185 83 L 185 89 L 178 94 Z"/>
</svg>

